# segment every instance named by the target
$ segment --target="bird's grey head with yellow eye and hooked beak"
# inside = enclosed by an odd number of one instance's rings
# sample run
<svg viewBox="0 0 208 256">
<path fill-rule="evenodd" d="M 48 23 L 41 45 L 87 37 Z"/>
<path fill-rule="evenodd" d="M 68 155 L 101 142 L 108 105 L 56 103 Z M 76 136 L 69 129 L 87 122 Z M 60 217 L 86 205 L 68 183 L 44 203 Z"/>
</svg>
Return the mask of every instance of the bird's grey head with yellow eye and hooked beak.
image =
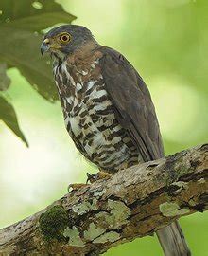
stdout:
<svg viewBox="0 0 208 256">
<path fill-rule="evenodd" d="M 95 39 L 86 27 L 63 25 L 52 28 L 44 35 L 41 53 L 50 52 L 62 59 L 89 42 L 95 42 Z"/>
</svg>

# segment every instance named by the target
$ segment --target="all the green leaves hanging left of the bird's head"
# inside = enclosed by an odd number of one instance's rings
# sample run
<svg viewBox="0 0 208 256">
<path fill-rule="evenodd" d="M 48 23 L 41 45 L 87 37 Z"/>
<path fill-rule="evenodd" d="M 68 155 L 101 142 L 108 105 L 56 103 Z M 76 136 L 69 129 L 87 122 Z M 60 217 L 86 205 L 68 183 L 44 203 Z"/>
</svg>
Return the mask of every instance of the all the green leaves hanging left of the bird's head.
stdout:
<svg viewBox="0 0 208 256">
<path fill-rule="evenodd" d="M 16 67 L 43 98 L 57 100 L 49 60 L 45 61 L 40 54 L 42 30 L 58 23 L 70 23 L 75 16 L 64 11 L 60 4 L 43 0 L 2 0 L 0 10 L 0 90 L 9 87 L 6 67 Z M 0 117 L 7 116 L 7 121 L 3 119 L 5 123 L 26 141 L 20 129 L 16 129 L 19 126 L 14 109 L 13 115 L 4 112 L 9 104 L 4 106 L 6 102 L 1 102 Z"/>
</svg>

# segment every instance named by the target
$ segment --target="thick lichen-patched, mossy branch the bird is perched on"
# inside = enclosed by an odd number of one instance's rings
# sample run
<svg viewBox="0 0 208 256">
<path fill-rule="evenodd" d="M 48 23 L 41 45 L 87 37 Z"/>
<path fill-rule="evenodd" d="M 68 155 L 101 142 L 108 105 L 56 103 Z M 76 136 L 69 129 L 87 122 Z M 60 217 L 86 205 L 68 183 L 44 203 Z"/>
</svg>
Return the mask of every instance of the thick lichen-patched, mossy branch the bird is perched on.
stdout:
<svg viewBox="0 0 208 256">
<path fill-rule="evenodd" d="M 0 230 L 0 255 L 99 255 L 208 208 L 208 144 L 131 167 Z"/>
</svg>

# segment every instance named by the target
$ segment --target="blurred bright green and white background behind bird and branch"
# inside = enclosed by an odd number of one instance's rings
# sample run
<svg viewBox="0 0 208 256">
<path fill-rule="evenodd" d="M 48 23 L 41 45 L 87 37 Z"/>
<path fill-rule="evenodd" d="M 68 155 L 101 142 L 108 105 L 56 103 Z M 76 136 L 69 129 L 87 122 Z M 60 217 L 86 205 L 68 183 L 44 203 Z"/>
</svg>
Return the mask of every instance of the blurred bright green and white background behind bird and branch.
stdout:
<svg viewBox="0 0 208 256">
<path fill-rule="evenodd" d="M 191 0 L 59 0 L 97 41 L 122 52 L 147 82 L 156 106 L 165 155 L 207 142 L 208 4 Z M 34 48 L 39 53 L 39 46 Z M 85 182 L 95 167 L 64 128 L 60 102 L 43 99 L 9 68 L 12 102 L 29 147 L 0 122 L 0 227 L 8 226 Z M 51 74 L 52 76 L 52 74 Z M 193 255 L 208 255 L 208 212 L 180 219 Z M 162 255 L 156 237 L 110 249 L 106 256 Z"/>
</svg>

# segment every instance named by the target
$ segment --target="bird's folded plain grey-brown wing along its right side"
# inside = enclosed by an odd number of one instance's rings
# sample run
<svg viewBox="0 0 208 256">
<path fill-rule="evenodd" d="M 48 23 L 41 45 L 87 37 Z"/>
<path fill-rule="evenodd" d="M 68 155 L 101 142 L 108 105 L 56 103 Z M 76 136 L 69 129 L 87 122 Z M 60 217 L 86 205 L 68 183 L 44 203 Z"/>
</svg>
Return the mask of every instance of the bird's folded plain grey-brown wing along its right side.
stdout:
<svg viewBox="0 0 208 256">
<path fill-rule="evenodd" d="M 155 108 L 146 83 L 117 51 L 102 47 L 101 73 L 116 118 L 127 129 L 144 161 L 164 156 Z"/>
</svg>

